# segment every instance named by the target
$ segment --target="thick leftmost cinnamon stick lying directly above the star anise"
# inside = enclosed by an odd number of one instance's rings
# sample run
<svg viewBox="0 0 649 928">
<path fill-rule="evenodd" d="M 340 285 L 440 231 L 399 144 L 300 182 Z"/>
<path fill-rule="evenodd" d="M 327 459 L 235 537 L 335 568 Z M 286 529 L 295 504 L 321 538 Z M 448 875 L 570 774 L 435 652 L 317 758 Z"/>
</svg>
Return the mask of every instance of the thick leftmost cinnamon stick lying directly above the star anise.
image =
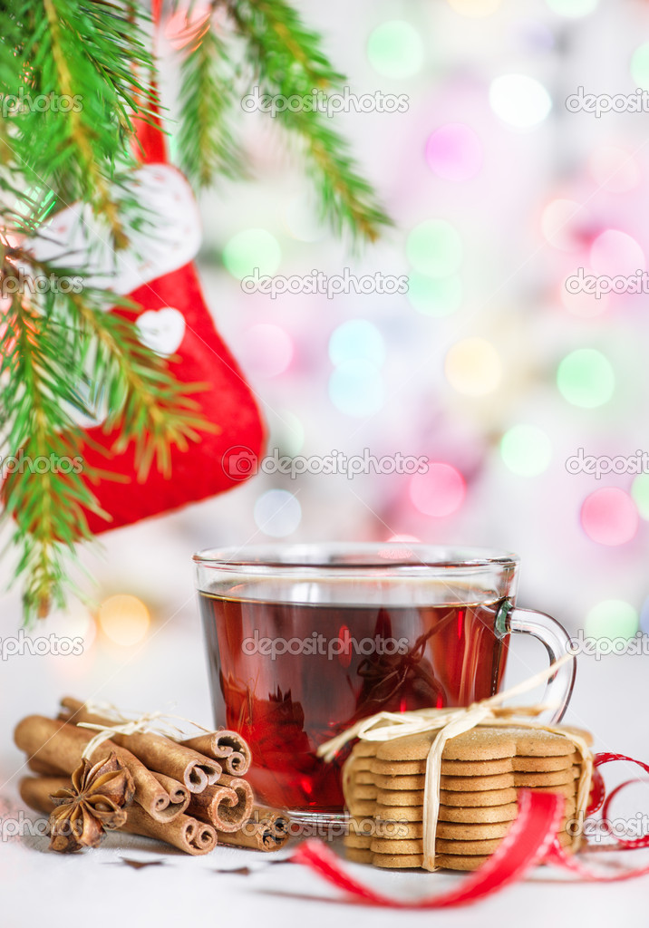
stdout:
<svg viewBox="0 0 649 928">
<path fill-rule="evenodd" d="M 36 768 L 37 772 L 54 769 L 71 774 L 79 766 L 84 748 L 92 737 L 92 731 L 87 728 L 76 728 L 44 715 L 28 715 L 14 731 L 14 741 L 28 755 L 29 766 Z M 184 808 L 182 803 L 173 802 L 154 774 L 123 747 L 112 741 L 103 741 L 93 751 L 90 760 L 96 762 L 110 751 L 114 751 L 129 770 L 136 786 L 135 801 L 152 818 L 171 821 L 180 815 Z"/>
</svg>

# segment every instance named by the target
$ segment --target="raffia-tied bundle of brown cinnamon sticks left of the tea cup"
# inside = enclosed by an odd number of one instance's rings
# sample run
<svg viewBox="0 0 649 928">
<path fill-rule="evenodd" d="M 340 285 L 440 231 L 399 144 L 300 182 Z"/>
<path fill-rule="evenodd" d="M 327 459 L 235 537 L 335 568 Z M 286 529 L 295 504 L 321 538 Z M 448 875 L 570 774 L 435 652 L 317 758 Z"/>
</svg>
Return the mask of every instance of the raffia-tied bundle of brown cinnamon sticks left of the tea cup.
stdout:
<svg viewBox="0 0 649 928">
<path fill-rule="evenodd" d="M 20 795 L 38 812 L 54 810 L 53 795 L 70 787 L 71 774 L 97 734 L 79 723 L 115 725 L 84 702 L 66 698 L 58 718 L 29 715 L 14 732 L 37 774 L 21 780 Z M 251 751 L 235 731 L 222 729 L 187 741 L 149 731 L 116 732 L 97 744 L 88 759 L 97 764 L 110 754 L 128 771 L 135 788 L 122 831 L 148 835 L 194 855 L 207 854 L 217 843 L 272 851 L 288 840 L 287 816 L 255 804 L 244 779 Z"/>
</svg>

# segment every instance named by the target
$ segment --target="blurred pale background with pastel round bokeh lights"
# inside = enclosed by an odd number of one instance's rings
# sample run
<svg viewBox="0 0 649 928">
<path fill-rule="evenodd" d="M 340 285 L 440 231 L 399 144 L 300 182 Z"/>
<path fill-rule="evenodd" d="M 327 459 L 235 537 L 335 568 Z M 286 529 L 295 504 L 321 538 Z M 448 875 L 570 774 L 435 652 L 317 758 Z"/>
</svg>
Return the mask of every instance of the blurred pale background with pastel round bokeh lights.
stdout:
<svg viewBox="0 0 649 928">
<path fill-rule="evenodd" d="M 95 637 L 96 656 L 84 654 L 75 673 L 120 648 L 140 648 L 136 668 L 151 638 L 155 657 L 156 629 L 182 641 L 195 622 L 194 550 L 272 539 L 403 536 L 512 549 L 523 559 L 522 605 L 573 631 L 649 631 L 649 475 L 596 480 L 566 469 L 579 448 L 611 458 L 649 451 L 648 298 L 565 288 L 578 268 L 615 276 L 646 267 L 649 112 L 597 119 L 565 101 L 579 86 L 649 88 L 649 4 L 300 6 L 353 92 L 408 97 L 406 112 L 335 117 L 395 226 L 356 254 L 333 238 L 277 126 L 241 111 L 253 180 L 201 199 L 206 295 L 263 406 L 269 450 L 368 448 L 378 458 L 425 456 L 430 469 L 351 480 L 259 474 L 227 496 L 107 535 L 103 554 L 84 555 L 103 600 L 97 625 L 76 606 L 50 625 Z M 409 292 L 271 300 L 241 289 L 254 267 L 407 275 Z M 4 627 L 15 627 L 18 599 L 5 597 Z"/>
</svg>

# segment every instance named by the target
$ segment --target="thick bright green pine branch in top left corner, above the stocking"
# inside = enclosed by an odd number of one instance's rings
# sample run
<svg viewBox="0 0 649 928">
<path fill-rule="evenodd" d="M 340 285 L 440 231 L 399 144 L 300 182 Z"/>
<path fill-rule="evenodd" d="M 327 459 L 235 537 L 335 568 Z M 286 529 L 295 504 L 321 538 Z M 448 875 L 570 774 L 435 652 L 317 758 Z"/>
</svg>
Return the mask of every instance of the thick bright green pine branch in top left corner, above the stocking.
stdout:
<svg viewBox="0 0 649 928">
<path fill-rule="evenodd" d="M 46 192 L 56 193 L 50 209 L 57 199 L 62 205 L 84 200 L 123 247 L 128 223 L 115 191 L 135 164 L 128 150 L 132 114 L 149 115 L 151 93 L 136 76 L 136 69 L 148 74 L 152 68 L 140 23 L 123 4 L 107 0 L 43 0 L 22 3 L 19 24 L 19 70 L 1 86 L 3 100 L 13 95 L 16 101 L 6 108 L 11 166 L 27 180 L 26 196 L 18 185 L 9 190 L 20 202 L 17 212 L 33 227 L 43 212 L 34 216 L 32 203 Z"/>
</svg>

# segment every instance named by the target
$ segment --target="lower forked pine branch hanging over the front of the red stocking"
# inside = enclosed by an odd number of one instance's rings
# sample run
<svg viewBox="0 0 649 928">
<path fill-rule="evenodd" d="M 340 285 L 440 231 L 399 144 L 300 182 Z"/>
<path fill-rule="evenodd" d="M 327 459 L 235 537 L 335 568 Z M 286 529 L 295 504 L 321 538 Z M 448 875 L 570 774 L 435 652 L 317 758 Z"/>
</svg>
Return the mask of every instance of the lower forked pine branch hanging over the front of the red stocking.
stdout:
<svg viewBox="0 0 649 928">
<path fill-rule="evenodd" d="M 131 303 L 90 288 L 62 293 L 67 288 L 58 280 L 73 276 L 72 269 L 29 264 L 19 249 L 1 251 L 0 281 L 15 276 L 18 264 L 27 267 L 28 279 L 53 279 L 42 295 L 16 293 L 0 317 L 2 442 L 9 455 L 28 462 L 78 458 L 84 431 L 74 411 L 92 416 L 101 406 L 107 409 L 104 430 L 118 430 L 113 450 L 135 443 L 138 479 L 144 480 L 154 463 L 169 472 L 172 447 L 186 450 L 201 432 L 214 430 L 188 396 L 201 385 L 176 381 L 167 361 L 139 342 L 131 319 L 106 312 L 115 303 L 133 309 Z M 86 512 L 110 518 L 90 489 L 106 476 L 84 461 L 83 475 L 28 467 L 6 479 L 5 518 L 16 522 L 12 540 L 20 551 L 16 573 L 26 577 L 26 621 L 44 615 L 50 603 L 63 603 L 72 588 L 75 546 L 91 538 Z"/>
</svg>

